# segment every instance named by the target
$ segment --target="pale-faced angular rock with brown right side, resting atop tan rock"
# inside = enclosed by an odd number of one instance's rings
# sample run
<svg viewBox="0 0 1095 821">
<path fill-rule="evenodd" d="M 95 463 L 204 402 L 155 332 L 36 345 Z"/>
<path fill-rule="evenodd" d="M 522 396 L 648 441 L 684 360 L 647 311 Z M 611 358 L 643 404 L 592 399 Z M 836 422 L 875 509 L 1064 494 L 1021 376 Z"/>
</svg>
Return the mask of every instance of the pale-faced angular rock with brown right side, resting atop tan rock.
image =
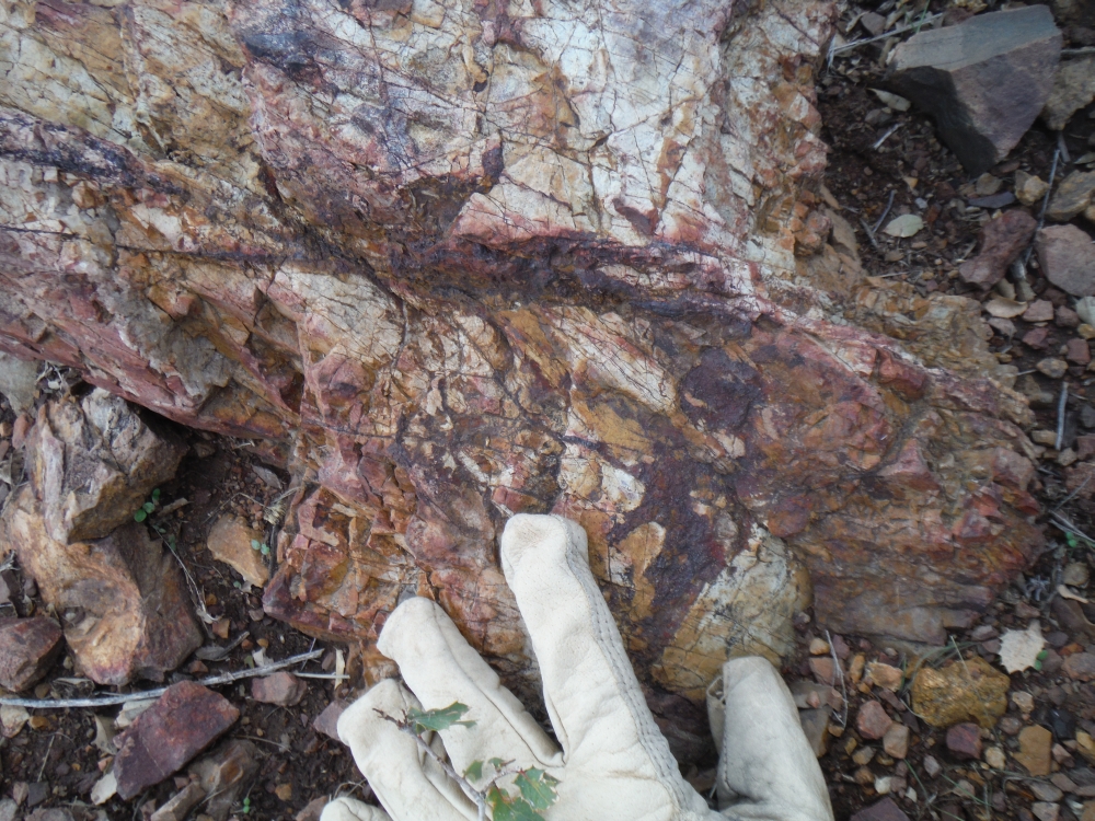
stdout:
<svg viewBox="0 0 1095 821">
<path fill-rule="evenodd" d="M 27 453 L 46 529 L 68 544 L 103 539 L 131 521 L 152 488 L 175 475 L 186 447 L 96 389 L 79 402 L 43 405 Z"/>
</svg>

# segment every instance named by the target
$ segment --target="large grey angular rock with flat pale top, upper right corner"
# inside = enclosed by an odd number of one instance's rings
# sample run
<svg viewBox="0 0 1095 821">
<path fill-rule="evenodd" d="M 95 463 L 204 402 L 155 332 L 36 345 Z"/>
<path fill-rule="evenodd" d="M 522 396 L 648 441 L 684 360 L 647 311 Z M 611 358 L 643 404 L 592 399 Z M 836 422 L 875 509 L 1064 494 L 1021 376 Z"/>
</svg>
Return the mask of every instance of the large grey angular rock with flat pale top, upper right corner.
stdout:
<svg viewBox="0 0 1095 821">
<path fill-rule="evenodd" d="M 979 14 L 897 46 L 888 82 L 931 113 L 943 142 L 980 174 L 1007 155 L 1046 105 L 1061 39 L 1046 5 Z"/>
</svg>

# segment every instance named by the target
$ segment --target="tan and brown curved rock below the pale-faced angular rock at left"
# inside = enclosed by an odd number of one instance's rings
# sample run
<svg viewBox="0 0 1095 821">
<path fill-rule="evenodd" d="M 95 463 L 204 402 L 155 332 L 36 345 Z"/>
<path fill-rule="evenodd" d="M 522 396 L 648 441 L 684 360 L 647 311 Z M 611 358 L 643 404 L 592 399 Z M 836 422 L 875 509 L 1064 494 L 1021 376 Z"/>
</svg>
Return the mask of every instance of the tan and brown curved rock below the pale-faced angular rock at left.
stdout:
<svg viewBox="0 0 1095 821">
<path fill-rule="evenodd" d="M 46 532 L 27 486 L 0 519 L 0 540 L 62 617 L 77 667 L 99 684 L 161 681 L 201 645 L 183 575 L 143 524 L 65 544 Z"/>
</svg>

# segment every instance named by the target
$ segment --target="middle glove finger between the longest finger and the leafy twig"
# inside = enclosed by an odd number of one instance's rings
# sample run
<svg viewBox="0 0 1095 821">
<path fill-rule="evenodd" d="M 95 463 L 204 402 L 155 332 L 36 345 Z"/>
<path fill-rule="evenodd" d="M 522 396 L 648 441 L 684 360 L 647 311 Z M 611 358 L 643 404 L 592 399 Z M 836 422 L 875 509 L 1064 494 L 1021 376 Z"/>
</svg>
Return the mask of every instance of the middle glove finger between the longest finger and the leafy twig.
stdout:
<svg viewBox="0 0 1095 821">
<path fill-rule="evenodd" d="M 519 767 L 562 763 L 558 749 L 525 706 L 498 680 L 441 608 L 408 599 L 388 617 L 377 648 L 400 666 L 403 681 L 426 709 L 453 702 L 468 706 L 466 720 L 441 731 L 457 772 L 474 761 L 499 758 Z"/>
</svg>

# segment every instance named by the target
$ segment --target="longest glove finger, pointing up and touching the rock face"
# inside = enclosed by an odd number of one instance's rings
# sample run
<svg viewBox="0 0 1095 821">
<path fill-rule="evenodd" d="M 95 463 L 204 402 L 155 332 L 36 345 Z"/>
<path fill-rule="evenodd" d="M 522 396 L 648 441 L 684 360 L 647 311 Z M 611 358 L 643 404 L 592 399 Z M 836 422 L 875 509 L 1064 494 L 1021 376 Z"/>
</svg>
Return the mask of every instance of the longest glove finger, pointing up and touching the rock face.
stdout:
<svg viewBox="0 0 1095 821">
<path fill-rule="evenodd" d="M 646 706 L 589 570 L 585 531 L 558 516 L 515 516 L 502 535 L 502 566 L 532 637 L 567 771 L 658 783 L 670 803 L 706 813 Z"/>
</svg>

